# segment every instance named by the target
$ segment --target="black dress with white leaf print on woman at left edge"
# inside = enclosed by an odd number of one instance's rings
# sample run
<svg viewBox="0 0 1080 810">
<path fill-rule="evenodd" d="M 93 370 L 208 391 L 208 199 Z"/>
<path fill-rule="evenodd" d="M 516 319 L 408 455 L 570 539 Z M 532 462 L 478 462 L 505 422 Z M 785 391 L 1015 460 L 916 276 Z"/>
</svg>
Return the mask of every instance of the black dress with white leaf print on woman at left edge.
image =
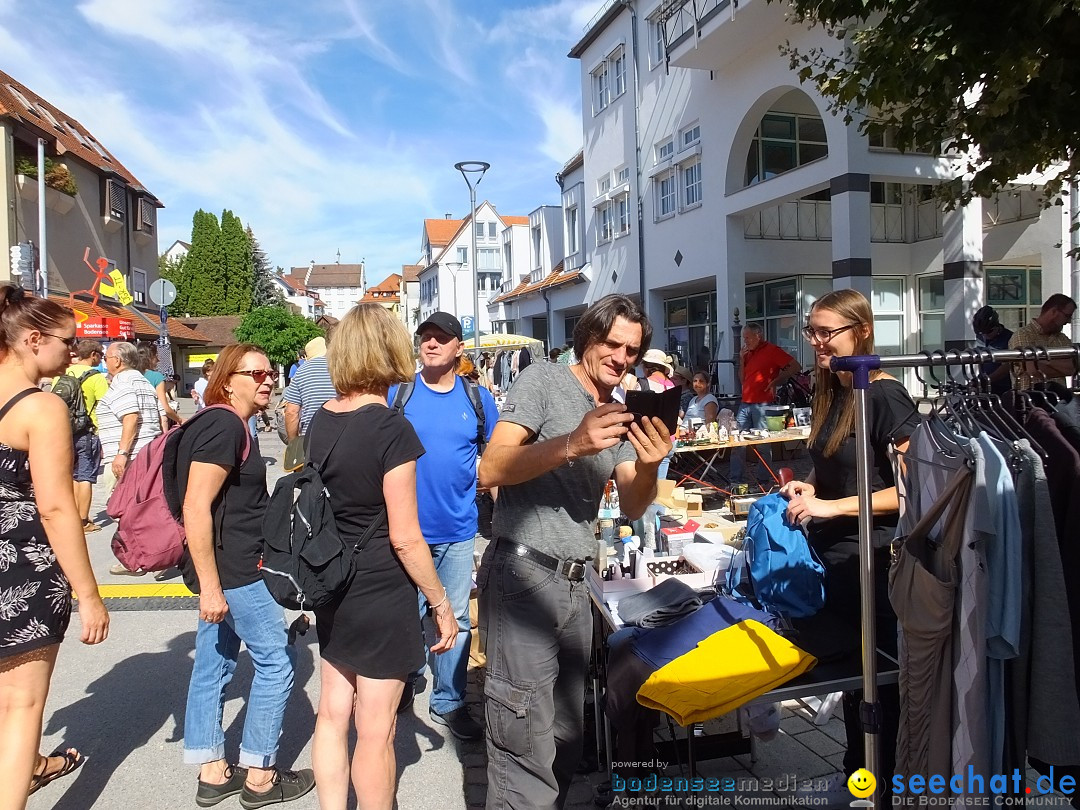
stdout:
<svg viewBox="0 0 1080 810">
<path fill-rule="evenodd" d="M 29 454 L 0 443 L 0 659 L 59 644 L 70 619 L 71 589 L 41 526 Z"/>
</svg>

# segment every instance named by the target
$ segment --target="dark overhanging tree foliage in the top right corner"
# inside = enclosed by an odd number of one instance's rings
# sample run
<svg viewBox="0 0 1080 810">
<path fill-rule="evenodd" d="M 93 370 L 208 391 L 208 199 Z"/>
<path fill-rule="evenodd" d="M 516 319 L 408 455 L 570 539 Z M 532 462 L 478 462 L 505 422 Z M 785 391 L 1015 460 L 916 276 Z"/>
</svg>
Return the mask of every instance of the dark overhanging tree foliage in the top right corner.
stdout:
<svg viewBox="0 0 1080 810">
<path fill-rule="evenodd" d="M 791 0 L 835 51 L 785 45 L 801 81 L 904 151 L 947 145 L 967 184 L 949 204 L 988 197 L 1032 171 L 1048 199 L 1080 173 L 1080 0 Z M 870 118 L 863 118 L 866 112 Z"/>
</svg>

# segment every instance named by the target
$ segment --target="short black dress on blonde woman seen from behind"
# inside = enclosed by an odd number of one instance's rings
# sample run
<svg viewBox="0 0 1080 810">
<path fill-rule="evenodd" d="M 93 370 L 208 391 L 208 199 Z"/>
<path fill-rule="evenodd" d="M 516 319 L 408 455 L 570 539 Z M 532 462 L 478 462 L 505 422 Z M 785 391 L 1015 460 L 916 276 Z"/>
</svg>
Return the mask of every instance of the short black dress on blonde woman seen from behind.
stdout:
<svg viewBox="0 0 1080 810">
<path fill-rule="evenodd" d="M 404 416 L 375 404 L 348 414 L 321 408 L 308 436 L 313 462 L 329 454 L 323 483 L 342 540 L 354 544 L 386 505 L 383 475 L 422 456 L 423 445 Z M 356 554 L 342 597 L 314 612 L 320 654 L 337 666 L 393 678 L 423 665 L 416 585 L 390 545 L 386 522 Z"/>
</svg>

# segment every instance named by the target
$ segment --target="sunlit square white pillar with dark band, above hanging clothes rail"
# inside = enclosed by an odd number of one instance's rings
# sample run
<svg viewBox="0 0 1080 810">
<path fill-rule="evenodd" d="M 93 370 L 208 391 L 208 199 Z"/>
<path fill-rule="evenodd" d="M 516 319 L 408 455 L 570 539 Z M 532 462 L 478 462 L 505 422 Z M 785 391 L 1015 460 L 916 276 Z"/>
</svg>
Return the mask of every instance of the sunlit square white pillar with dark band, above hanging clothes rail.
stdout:
<svg viewBox="0 0 1080 810">
<path fill-rule="evenodd" d="M 945 279 L 946 349 L 964 349 L 974 339 L 971 318 L 983 306 L 983 201 L 945 212 L 942 219 L 942 275 Z"/>
</svg>

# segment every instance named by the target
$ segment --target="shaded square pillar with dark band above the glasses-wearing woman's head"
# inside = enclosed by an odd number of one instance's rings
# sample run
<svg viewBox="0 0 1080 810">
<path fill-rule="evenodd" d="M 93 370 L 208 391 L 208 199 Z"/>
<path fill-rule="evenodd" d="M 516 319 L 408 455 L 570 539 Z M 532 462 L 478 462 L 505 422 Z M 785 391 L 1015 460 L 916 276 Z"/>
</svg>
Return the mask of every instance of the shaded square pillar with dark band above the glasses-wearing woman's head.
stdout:
<svg viewBox="0 0 1080 810">
<path fill-rule="evenodd" d="M 833 288 L 870 297 L 870 176 L 848 173 L 832 179 Z"/>
</svg>

